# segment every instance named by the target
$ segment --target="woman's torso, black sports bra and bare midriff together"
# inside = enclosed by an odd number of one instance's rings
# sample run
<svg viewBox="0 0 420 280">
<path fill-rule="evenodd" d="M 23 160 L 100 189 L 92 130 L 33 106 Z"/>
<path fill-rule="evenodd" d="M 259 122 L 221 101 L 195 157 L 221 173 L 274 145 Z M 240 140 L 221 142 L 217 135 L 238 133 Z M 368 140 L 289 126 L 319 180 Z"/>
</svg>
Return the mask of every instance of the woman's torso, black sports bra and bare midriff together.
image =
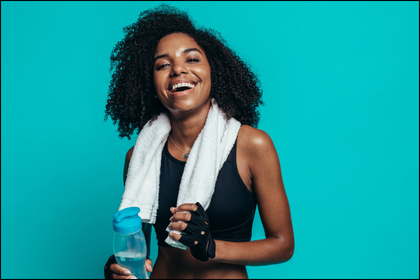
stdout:
<svg viewBox="0 0 420 280">
<path fill-rule="evenodd" d="M 240 135 L 239 135 L 240 136 Z M 249 241 L 256 200 L 246 170 L 246 160 L 240 161 L 240 137 L 219 172 L 215 191 L 207 209 L 210 230 L 215 240 Z M 238 147 L 237 147 L 238 146 Z M 248 278 L 243 265 L 201 262 L 192 257 L 189 249 L 180 250 L 164 243 L 165 231 L 172 216 L 170 207 L 176 199 L 185 163 L 182 154 L 165 145 L 162 153 L 159 210 L 155 223 L 159 251 L 151 278 Z M 166 209 L 167 208 L 167 209 Z M 212 222 L 213 221 L 213 222 Z"/>
</svg>

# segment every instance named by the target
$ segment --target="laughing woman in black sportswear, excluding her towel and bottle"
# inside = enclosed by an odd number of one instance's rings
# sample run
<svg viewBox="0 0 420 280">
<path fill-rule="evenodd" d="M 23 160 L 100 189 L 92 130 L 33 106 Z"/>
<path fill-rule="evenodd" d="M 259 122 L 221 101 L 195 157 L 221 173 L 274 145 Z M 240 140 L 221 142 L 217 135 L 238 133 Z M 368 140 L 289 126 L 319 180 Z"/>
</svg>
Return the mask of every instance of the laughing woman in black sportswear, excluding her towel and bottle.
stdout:
<svg viewBox="0 0 420 280">
<path fill-rule="evenodd" d="M 248 278 L 246 265 L 289 260 L 294 237 L 279 159 L 270 137 L 254 128 L 262 104 L 258 79 L 220 35 L 196 29 L 185 13 L 167 5 L 143 12 L 125 32 L 111 56 L 115 72 L 106 116 L 118 121 L 120 137 L 129 139 L 161 113 L 171 127 L 162 151 L 153 269 L 146 260 L 150 278 Z M 177 206 L 182 172 L 214 106 L 226 120 L 239 121 L 237 138 L 218 173 L 210 206 Z M 133 148 L 126 155 L 124 182 Z M 250 241 L 256 204 L 266 238 Z M 187 250 L 165 242 L 168 219 L 170 238 Z M 143 224 L 148 244 L 150 228 Z M 132 276 L 111 256 L 105 277 Z"/>
</svg>

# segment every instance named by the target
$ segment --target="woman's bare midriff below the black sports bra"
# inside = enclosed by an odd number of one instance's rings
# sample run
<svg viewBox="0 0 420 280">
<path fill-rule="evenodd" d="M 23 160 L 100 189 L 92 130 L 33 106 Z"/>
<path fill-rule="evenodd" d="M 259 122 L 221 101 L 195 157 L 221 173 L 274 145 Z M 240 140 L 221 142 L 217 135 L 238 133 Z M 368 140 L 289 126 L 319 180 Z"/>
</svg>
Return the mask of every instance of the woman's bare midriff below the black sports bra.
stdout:
<svg viewBox="0 0 420 280">
<path fill-rule="evenodd" d="M 182 279 L 248 279 L 244 265 L 206 262 L 195 259 L 189 248 L 181 250 L 173 247 L 159 247 L 158 257 L 150 275 L 157 278 Z"/>
</svg>

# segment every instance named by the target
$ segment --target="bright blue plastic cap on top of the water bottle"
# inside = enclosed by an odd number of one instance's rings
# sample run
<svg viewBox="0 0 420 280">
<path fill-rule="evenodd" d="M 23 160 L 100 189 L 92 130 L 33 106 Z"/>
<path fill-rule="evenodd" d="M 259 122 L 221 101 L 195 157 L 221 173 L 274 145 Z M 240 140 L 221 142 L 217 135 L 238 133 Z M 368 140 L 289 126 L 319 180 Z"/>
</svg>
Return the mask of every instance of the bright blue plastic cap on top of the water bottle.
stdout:
<svg viewBox="0 0 420 280">
<path fill-rule="evenodd" d="M 128 207 L 115 213 L 112 225 L 118 233 L 133 233 L 141 229 L 140 208 Z"/>
</svg>

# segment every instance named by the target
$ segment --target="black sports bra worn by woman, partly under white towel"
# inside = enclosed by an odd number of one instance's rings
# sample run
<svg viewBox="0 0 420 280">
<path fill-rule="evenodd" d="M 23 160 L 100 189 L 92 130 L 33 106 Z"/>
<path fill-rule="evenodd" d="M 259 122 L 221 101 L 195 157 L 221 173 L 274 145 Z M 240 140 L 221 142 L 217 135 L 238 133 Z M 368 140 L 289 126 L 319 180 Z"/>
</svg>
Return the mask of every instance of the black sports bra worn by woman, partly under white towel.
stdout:
<svg viewBox="0 0 420 280">
<path fill-rule="evenodd" d="M 165 242 L 168 232 L 170 207 L 176 206 L 179 184 L 185 162 L 175 159 L 168 151 L 168 142 L 162 152 L 160 171 L 159 208 L 153 225 L 159 246 Z M 256 200 L 243 183 L 236 166 L 236 142 L 219 171 L 215 190 L 206 210 L 210 232 L 214 239 L 225 241 L 250 241 L 254 221 Z"/>
</svg>

